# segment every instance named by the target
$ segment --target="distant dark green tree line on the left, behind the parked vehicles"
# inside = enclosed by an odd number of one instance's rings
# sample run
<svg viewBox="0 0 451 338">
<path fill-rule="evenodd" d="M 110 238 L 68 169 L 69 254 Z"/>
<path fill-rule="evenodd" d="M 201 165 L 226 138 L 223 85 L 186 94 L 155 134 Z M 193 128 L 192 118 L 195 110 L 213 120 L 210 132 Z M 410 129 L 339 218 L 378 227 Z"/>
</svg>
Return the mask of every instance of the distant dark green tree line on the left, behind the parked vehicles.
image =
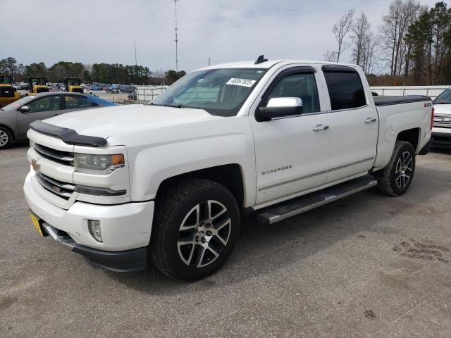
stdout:
<svg viewBox="0 0 451 338">
<path fill-rule="evenodd" d="M 11 75 L 16 82 L 24 81 L 28 76 L 44 76 L 49 82 L 61 82 L 63 77 L 80 77 L 86 83 L 116 84 L 172 84 L 186 74 L 184 70 L 152 73 L 148 67 L 142 65 L 122 65 L 121 63 L 87 65 L 80 62 L 60 61 L 47 68 L 43 62 L 23 65 L 13 57 L 0 60 L 0 73 Z"/>
</svg>

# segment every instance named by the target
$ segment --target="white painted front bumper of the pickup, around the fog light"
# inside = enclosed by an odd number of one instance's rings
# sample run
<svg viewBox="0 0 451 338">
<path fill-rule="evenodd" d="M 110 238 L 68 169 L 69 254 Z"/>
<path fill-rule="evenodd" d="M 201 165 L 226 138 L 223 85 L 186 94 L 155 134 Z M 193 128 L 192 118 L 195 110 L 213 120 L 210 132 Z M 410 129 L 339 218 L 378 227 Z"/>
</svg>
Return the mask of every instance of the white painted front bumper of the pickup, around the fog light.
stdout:
<svg viewBox="0 0 451 338">
<path fill-rule="evenodd" d="M 114 260 L 122 259 L 119 258 L 121 252 L 118 251 L 144 250 L 149 245 L 154 201 L 118 205 L 97 205 L 77 201 L 65 210 L 44 199 L 42 197 L 42 194 L 45 194 L 44 188 L 33 180 L 34 175 L 27 175 L 23 186 L 28 206 L 43 223 L 65 232 L 74 242 L 73 251 L 79 253 L 83 251 L 86 253 L 85 256 L 92 259 L 104 255 Z M 87 220 L 100 220 L 102 243 L 97 242 L 89 233 Z M 122 257 L 126 256 L 128 255 Z M 106 266 L 102 263 L 99 265 Z M 116 268 L 116 270 L 124 269 Z"/>
</svg>

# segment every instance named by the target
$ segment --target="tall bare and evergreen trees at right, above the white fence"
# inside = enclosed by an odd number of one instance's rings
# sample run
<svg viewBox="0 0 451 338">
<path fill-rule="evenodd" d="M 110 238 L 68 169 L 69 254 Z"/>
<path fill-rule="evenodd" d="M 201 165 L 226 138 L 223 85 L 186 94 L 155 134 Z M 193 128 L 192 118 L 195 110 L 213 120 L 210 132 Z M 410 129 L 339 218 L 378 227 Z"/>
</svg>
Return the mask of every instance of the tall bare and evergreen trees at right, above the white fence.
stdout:
<svg viewBox="0 0 451 338">
<path fill-rule="evenodd" d="M 376 31 L 365 13 L 347 11 L 332 27 L 337 48 L 326 61 L 340 61 L 350 49 L 350 62 L 360 65 L 371 85 L 451 83 L 451 8 L 440 1 L 427 8 L 415 0 L 394 0 Z M 375 75 L 374 69 L 385 70 Z"/>
</svg>

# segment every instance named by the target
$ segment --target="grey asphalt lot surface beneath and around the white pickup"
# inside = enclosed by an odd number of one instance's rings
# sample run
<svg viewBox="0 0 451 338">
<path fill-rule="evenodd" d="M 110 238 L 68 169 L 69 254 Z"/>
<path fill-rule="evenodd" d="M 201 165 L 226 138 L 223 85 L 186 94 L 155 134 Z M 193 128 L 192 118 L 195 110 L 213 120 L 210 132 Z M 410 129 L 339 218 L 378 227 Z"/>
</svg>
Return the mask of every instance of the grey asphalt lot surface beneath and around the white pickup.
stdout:
<svg viewBox="0 0 451 338">
<path fill-rule="evenodd" d="M 404 196 L 369 190 L 268 227 L 246 218 L 224 268 L 186 284 L 44 243 L 22 192 L 26 150 L 0 152 L 0 337 L 449 335 L 451 151 L 417 157 Z"/>
</svg>

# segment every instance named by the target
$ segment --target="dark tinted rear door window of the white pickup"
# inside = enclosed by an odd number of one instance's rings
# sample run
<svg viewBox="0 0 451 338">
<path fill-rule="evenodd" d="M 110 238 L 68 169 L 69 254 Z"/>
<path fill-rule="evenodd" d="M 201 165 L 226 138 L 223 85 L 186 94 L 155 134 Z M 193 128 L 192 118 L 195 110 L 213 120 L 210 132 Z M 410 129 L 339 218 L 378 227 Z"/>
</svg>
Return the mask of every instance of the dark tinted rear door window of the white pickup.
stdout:
<svg viewBox="0 0 451 338">
<path fill-rule="evenodd" d="M 354 68 L 324 66 L 323 73 L 326 77 L 330 106 L 333 111 L 366 105 L 364 86 L 359 73 Z"/>
</svg>

